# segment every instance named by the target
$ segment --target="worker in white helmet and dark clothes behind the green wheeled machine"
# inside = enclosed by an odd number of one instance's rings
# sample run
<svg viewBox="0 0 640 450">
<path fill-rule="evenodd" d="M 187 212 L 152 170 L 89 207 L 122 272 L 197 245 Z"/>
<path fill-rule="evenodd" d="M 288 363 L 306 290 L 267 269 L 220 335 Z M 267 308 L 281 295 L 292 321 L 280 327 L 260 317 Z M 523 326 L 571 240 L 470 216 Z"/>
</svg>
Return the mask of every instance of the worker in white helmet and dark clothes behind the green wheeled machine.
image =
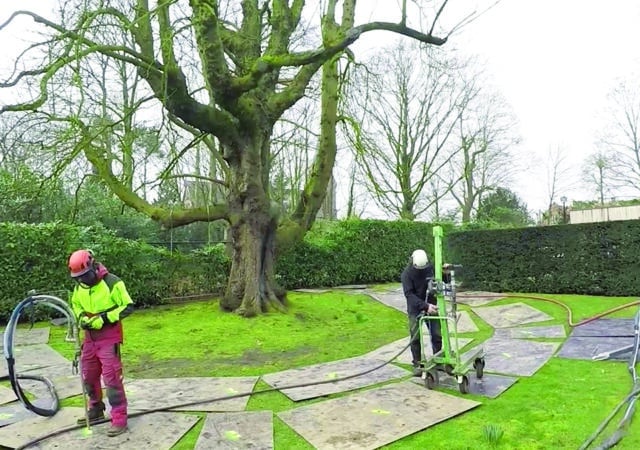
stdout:
<svg viewBox="0 0 640 450">
<path fill-rule="evenodd" d="M 418 249 L 411 254 L 409 264 L 402 272 L 402 290 L 407 299 L 407 314 L 409 316 L 409 336 L 411 339 L 411 356 L 414 376 L 421 376 L 420 360 L 422 352 L 420 333 L 418 331 L 418 317 L 421 314 L 437 314 L 437 300 L 433 292 L 429 291 L 429 281 L 434 278 L 433 264 L 429 262 L 427 253 Z M 427 320 L 431 349 L 436 354 L 442 349 L 442 334 L 440 321 Z"/>
</svg>

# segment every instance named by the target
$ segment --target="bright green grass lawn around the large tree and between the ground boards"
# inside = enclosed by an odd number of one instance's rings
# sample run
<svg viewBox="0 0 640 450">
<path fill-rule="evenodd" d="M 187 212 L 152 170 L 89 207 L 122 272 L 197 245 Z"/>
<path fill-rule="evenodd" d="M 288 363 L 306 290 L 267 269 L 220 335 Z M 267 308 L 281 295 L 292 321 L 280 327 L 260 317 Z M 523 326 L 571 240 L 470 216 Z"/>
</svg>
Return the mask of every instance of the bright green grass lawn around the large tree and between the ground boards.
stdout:
<svg viewBox="0 0 640 450">
<path fill-rule="evenodd" d="M 545 297 L 569 305 L 574 321 L 634 300 Z M 361 355 L 406 336 L 405 316 L 367 296 L 342 291 L 290 293 L 289 301 L 289 314 L 273 313 L 254 319 L 221 313 L 216 302 L 137 311 L 125 321 L 125 376 L 260 375 Z M 566 311 L 551 303 L 506 299 L 493 304 L 514 301 L 552 315 L 553 323 L 566 323 Z M 631 317 L 635 311 L 630 308 L 613 317 Z M 475 315 L 474 320 L 481 330 L 473 334 L 476 340 L 472 345 L 492 332 Z M 71 357 L 72 348 L 63 341 L 63 335 L 64 329 L 52 329 L 50 343 Z M 385 448 L 576 449 L 630 386 L 623 363 L 552 358 L 534 376 L 521 378 L 497 399 L 470 395 L 482 405 Z M 256 390 L 266 388 L 263 382 L 256 386 Z M 416 389 L 423 388 L 416 385 Z M 270 392 L 252 396 L 248 409 L 277 413 L 316 401 L 322 400 L 294 403 L 278 392 Z M 80 400 L 70 399 L 64 404 L 79 405 Z M 175 448 L 192 449 L 201 426 L 202 421 Z M 276 416 L 274 438 L 276 449 L 312 448 Z M 640 429 L 632 426 L 629 436 L 616 448 L 640 448 Z"/>
</svg>

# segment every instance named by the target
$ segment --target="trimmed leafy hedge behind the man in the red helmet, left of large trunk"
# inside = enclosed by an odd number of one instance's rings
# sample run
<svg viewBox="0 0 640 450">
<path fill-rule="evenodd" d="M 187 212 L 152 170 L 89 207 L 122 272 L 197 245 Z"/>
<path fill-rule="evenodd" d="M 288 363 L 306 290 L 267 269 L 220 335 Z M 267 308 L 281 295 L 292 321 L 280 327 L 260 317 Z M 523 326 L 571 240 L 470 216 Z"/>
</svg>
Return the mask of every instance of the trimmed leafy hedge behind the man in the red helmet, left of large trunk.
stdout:
<svg viewBox="0 0 640 450">
<path fill-rule="evenodd" d="M 218 246 L 188 255 L 118 238 L 107 230 L 64 224 L 0 223 L 0 320 L 35 289 L 66 298 L 73 288 L 67 258 L 78 248 L 92 249 L 110 272 L 126 283 L 137 306 L 172 296 L 216 292 L 225 285 L 229 262 Z M 37 312 L 40 318 L 45 311 Z"/>
</svg>

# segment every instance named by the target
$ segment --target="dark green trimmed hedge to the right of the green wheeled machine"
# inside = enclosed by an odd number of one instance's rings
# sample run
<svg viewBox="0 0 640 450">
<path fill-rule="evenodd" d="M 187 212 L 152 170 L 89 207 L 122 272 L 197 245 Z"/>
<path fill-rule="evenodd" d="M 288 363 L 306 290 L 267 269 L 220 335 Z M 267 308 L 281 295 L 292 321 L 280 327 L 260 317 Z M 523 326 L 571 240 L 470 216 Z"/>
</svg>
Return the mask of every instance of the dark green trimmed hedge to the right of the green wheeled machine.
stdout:
<svg viewBox="0 0 640 450">
<path fill-rule="evenodd" d="M 640 293 L 640 221 L 452 233 L 466 289 L 634 296 Z"/>
</svg>

